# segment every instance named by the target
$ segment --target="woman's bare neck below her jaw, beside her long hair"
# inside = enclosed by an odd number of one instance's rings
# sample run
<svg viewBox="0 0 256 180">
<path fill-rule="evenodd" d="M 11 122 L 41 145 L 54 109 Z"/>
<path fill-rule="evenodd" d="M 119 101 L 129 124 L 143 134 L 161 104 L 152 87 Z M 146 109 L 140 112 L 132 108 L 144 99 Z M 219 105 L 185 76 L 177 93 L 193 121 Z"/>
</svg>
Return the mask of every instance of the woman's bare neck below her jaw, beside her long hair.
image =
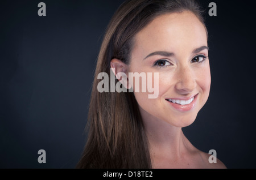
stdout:
<svg viewBox="0 0 256 180">
<path fill-rule="evenodd" d="M 144 128 L 150 146 L 150 156 L 153 164 L 158 160 L 178 160 L 189 151 L 190 142 L 183 134 L 181 127 L 142 114 Z"/>
</svg>

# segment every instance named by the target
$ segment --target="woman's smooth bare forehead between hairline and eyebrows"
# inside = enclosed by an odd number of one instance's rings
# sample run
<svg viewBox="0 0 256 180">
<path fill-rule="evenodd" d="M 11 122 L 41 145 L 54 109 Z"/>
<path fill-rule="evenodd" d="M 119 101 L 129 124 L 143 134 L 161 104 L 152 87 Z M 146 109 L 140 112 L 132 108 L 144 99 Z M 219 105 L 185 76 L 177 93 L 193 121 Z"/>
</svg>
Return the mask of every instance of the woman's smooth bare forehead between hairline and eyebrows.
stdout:
<svg viewBox="0 0 256 180">
<path fill-rule="evenodd" d="M 195 14 L 183 11 L 156 17 L 135 35 L 134 40 L 134 51 L 184 53 L 184 50 L 207 46 L 207 32 Z"/>
</svg>

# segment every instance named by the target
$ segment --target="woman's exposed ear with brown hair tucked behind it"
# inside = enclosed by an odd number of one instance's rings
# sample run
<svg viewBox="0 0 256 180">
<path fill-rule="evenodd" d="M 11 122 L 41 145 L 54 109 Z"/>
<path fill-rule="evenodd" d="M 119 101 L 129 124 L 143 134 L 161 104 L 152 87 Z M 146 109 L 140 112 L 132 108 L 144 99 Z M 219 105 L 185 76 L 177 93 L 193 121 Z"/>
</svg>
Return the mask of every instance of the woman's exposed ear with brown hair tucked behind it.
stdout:
<svg viewBox="0 0 256 180">
<path fill-rule="evenodd" d="M 110 61 L 110 67 L 115 77 L 122 83 L 126 89 L 130 88 L 128 79 L 128 65 L 119 59 L 112 59 Z"/>
</svg>

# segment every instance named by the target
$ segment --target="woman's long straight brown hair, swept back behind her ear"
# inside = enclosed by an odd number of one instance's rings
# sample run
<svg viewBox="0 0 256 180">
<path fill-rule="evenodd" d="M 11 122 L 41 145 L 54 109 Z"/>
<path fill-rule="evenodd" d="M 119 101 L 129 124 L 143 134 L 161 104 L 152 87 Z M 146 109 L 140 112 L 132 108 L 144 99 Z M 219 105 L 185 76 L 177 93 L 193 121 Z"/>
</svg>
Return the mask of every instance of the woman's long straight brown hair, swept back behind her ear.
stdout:
<svg viewBox="0 0 256 180">
<path fill-rule="evenodd" d="M 101 80 L 97 75 L 106 72 L 110 77 L 113 58 L 129 65 L 134 36 L 156 16 L 184 10 L 193 12 L 204 24 L 200 6 L 193 0 L 131 0 L 123 2 L 115 12 L 98 55 L 88 113 L 88 140 L 76 168 L 152 168 L 134 94 L 98 92 Z"/>
</svg>

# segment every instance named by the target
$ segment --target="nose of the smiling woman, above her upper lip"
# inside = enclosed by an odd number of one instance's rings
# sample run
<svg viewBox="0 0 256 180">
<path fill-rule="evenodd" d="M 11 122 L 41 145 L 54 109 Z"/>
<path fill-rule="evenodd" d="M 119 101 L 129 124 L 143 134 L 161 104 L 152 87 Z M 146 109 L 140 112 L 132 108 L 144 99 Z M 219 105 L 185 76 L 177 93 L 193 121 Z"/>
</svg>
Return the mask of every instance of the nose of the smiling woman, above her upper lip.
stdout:
<svg viewBox="0 0 256 180">
<path fill-rule="evenodd" d="M 176 79 L 175 89 L 181 95 L 187 95 L 196 88 L 196 76 L 190 67 L 180 67 Z"/>
</svg>

